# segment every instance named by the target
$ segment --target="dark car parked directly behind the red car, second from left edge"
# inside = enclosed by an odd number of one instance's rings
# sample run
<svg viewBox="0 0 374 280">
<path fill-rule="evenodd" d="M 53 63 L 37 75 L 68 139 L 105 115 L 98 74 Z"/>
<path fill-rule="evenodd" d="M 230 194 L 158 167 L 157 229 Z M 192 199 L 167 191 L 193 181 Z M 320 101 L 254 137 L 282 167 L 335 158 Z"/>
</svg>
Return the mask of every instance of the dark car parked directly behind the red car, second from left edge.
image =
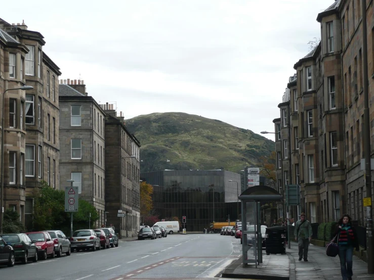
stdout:
<svg viewBox="0 0 374 280">
<path fill-rule="evenodd" d="M 36 245 L 25 234 L 2 234 L 0 237 L 13 247 L 15 261 L 26 264 L 28 259 L 37 262 L 38 253 Z"/>
</svg>

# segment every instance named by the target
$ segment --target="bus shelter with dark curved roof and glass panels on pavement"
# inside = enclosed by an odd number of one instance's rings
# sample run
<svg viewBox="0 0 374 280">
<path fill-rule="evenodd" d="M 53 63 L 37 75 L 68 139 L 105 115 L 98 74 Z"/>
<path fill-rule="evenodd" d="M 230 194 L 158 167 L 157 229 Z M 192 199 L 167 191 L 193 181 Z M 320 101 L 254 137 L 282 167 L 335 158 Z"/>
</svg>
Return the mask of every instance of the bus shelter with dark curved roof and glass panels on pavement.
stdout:
<svg viewBox="0 0 374 280">
<path fill-rule="evenodd" d="M 262 202 L 283 201 L 275 189 L 256 185 L 246 189 L 240 196 L 243 267 L 262 263 L 261 212 Z"/>
</svg>

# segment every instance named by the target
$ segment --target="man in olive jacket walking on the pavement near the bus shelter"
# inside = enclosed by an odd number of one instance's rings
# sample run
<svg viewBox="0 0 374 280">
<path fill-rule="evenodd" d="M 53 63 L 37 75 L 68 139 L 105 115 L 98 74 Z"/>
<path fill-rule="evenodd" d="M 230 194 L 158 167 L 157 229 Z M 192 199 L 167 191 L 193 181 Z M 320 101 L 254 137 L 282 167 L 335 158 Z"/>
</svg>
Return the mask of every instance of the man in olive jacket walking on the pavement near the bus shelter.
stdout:
<svg viewBox="0 0 374 280">
<path fill-rule="evenodd" d="M 299 245 L 299 261 L 304 257 L 304 261 L 308 261 L 309 242 L 312 239 L 312 226 L 310 221 L 305 217 L 305 213 L 301 213 L 300 220 L 295 224 L 295 240 Z"/>
</svg>

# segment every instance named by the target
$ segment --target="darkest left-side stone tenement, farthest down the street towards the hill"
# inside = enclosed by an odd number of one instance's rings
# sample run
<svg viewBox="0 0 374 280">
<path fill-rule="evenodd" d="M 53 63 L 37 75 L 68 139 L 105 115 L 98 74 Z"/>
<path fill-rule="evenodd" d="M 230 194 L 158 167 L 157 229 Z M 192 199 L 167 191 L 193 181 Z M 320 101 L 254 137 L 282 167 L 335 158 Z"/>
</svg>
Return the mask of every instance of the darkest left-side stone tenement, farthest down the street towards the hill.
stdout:
<svg viewBox="0 0 374 280">
<path fill-rule="evenodd" d="M 114 104 L 101 105 L 105 117 L 105 205 L 107 224 L 121 237 L 134 237 L 140 225 L 140 143 L 117 116 Z M 117 217 L 122 210 L 124 217 Z"/>
</svg>

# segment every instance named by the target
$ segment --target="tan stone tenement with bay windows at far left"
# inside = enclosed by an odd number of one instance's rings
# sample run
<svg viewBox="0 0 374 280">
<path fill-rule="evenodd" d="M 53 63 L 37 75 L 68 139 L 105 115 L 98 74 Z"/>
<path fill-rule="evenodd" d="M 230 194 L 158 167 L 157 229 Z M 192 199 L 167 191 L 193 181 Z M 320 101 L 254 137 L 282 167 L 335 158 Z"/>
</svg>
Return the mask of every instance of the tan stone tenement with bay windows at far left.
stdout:
<svg viewBox="0 0 374 280">
<path fill-rule="evenodd" d="M 0 91 L 4 97 L 4 204 L 30 228 L 35 188 L 58 186 L 60 69 L 43 52 L 44 37 L 0 19 Z M 9 90 L 22 85 L 33 89 Z M 3 108 L 3 104 L 2 104 Z M 1 149 L 2 147 L 0 147 Z"/>
</svg>

